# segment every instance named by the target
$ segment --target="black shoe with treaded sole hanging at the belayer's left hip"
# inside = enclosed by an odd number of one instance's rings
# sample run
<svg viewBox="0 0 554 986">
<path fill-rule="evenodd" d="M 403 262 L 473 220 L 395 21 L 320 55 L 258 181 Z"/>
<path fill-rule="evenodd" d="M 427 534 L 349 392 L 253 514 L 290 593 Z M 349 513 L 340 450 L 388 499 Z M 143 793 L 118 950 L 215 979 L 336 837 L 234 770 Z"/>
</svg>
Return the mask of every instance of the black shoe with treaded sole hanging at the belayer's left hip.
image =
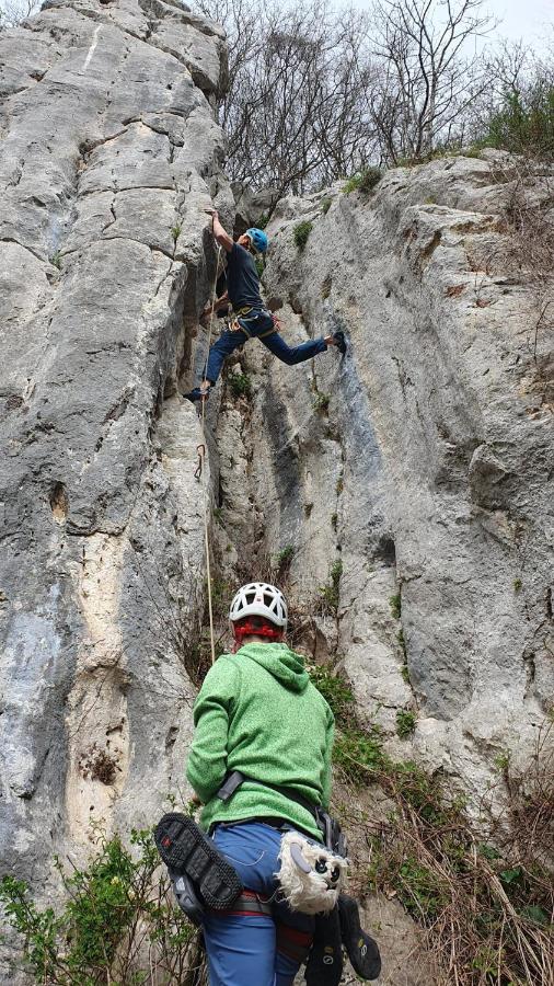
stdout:
<svg viewBox="0 0 554 986">
<path fill-rule="evenodd" d="M 242 893 L 236 870 L 193 818 L 169 812 L 155 826 L 154 839 L 172 879 L 186 874 L 200 903 L 215 910 L 224 910 Z M 183 892 L 185 890 L 184 886 Z"/>
</svg>

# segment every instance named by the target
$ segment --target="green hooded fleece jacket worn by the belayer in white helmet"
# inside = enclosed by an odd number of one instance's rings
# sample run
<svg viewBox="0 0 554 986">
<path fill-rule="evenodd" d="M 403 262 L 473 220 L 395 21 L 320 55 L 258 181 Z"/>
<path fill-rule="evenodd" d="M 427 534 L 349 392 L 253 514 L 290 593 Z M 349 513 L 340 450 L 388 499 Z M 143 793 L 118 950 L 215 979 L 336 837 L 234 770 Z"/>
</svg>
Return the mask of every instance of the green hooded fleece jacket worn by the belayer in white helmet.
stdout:
<svg viewBox="0 0 554 986">
<path fill-rule="evenodd" d="M 201 825 L 278 816 L 320 837 L 310 812 L 245 781 L 223 803 L 226 775 L 240 770 L 328 806 L 334 718 L 302 657 L 281 643 L 245 644 L 208 672 L 194 707 L 186 776 L 204 803 Z"/>
</svg>

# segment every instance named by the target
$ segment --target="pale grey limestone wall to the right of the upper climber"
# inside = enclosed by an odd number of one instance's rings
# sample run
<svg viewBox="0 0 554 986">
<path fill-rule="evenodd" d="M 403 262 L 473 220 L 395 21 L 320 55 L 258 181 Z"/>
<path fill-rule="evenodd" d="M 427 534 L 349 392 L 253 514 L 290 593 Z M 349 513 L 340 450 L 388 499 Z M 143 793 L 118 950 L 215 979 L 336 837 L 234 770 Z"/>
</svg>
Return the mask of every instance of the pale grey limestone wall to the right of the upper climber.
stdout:
<svg viewBox="0 0 554 986">
<path fill-rule="evenodd" d="M 392 170 L 371 196 L 282 200 L 264 280 L 284 337 L 343 329 L 349 351 L 287 367 L 251 343 L 244 364 L 257 550 L 293 549 L 312 653 L 343 664 L 397 753 L 475 799 L 498 787 L 503 752 L 532 754 L 554 703 L 554 295 L 517 256 L 515 194 L 493 153 Z M 547 206 L 549 180 L 524 196 Z M 395 737 L 399 709 L 416 712 L 412 741 Z"/>
</svg>

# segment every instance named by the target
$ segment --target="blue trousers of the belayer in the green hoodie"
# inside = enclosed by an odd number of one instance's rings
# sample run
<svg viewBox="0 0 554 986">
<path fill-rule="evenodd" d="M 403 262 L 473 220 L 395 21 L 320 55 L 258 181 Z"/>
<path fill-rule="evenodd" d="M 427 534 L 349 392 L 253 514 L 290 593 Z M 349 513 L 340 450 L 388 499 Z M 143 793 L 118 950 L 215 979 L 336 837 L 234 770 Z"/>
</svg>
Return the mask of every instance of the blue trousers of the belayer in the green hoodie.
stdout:
<svg viewBox="0 0 554 986">
<path fill-rule="evenodd" d="M 204 919 L 210 986 L 292 986 L 313 937 L 313 918 L 276 901 L 281 834 L 262 822 L 219 825 L 216 846 L 243 885 L 270 902 L 273 917 L 210 910 Z"/>
</svg>

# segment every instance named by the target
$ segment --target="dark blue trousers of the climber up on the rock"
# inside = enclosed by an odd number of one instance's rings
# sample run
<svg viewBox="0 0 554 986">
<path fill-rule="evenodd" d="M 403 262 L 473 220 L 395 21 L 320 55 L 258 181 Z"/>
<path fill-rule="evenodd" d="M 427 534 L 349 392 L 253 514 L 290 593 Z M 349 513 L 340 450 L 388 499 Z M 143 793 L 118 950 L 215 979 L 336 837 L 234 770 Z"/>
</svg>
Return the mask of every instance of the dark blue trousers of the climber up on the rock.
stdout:
<svg viewBox="0 0 554 986">
<path fill-rule="evenodd" d="M 208 355 L 208 364 L 206 366 L 206 378 L 215 383 L 218 379 L 223 360 L 230 356 L 233 349 L 243 346 L 249 339 L 255 339 L 264 332 L 269 332 L 273 328 L 273 320 L 269 316 L 259 313 L 257 318 L 240 318 L 239 324 L 243 325 L 246 331 L 238 329 L 236 332 L 222 332 L 218 341 L 210 347 Z M 274 331 L 270 335 L 264 335 L 261 340 L 264 346 L 269 349 L 274 356 L 277 356 L 288 366 L 295 366 L 297 363 L 303 363 L 304 359 L 311 359 L 318 353 L 324 353 L 327 344 L 323 336 L 320 339 L 310 339 L 299 346 L 288 346 L 278 332 Z"/>
</svg>

